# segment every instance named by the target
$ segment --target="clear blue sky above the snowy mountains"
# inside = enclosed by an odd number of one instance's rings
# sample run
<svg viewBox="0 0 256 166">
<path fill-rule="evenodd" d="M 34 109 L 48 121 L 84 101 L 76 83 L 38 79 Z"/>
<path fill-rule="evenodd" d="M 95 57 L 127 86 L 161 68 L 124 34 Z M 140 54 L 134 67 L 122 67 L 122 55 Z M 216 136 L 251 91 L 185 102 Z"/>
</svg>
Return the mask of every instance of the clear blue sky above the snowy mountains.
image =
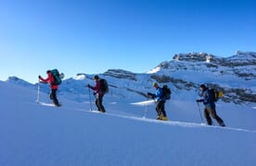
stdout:
<svg viewBox="0 0 256 166">
<path fill-rule="evenodd" d="M 0 80 L 111 68 L 144 73 L 174 53 L 256 51 L 253 0 L 0 0 Z"/>
</svg>

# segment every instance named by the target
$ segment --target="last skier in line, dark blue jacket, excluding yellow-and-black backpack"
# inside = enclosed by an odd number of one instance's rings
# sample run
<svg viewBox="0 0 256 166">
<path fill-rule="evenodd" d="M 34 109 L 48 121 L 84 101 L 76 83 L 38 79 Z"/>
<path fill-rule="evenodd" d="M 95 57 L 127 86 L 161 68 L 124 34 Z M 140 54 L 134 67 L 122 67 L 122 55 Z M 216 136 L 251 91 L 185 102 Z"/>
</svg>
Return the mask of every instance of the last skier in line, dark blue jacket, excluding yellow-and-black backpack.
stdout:
<svg viewBox="0 0 256 166">
<path fill-rule="evenodd" d="M 204 84 L 200 85 L 199 96 L 202 97 L 203 99 L 197 100 L 197 102 L 204 103 L 204 106 L 205 106 L 204 116 L 207 120 L 207 124 L 212 125 L 212 121 L 211 121 L 211 117 L 212 117 L 213 119 L 216 119 L 216 121 L 218 122 L 219 125 L 225 126 L 223 119 L 220 118 L 216 113 L 215 103 L 213 101 L 211 91 Z"/>
</svg>

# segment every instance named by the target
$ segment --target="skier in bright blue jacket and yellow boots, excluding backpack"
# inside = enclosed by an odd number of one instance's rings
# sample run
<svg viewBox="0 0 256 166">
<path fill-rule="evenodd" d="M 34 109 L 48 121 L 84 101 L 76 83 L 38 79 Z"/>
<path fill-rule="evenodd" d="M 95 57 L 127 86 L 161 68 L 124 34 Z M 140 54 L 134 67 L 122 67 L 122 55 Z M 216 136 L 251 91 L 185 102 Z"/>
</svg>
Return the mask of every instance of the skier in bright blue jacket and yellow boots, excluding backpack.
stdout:
<svg viewBox="0 0 256 166">
<path fill-rule="evenodd" d="M 159 87 L 158 83 L 154 83 L 153 87 L 156 89 L 156 93 L 152 94 L 147 92 L 147 95 L 156 100 L 157 120 L 167 121 L 168 119 L 164 110 L 165 99 L 162 98 L 162 88 Z"/>
</svg>

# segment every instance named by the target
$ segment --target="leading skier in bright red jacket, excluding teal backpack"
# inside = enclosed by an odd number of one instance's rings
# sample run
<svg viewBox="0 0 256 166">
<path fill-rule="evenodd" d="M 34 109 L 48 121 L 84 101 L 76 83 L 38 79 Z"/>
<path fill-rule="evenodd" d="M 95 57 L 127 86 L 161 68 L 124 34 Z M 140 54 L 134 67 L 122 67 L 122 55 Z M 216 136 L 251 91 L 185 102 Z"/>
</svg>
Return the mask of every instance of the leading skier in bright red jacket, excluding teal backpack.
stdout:
<svg viewBox="0 0 256 166">
<path fill-rule="evenodd" d="M 58 85 L 55 84 L 55 78 L 52 75 L 52 71 L 51 70 L 47 70 L 47 78 L 43 78 L 40 75 L 38 76 L 40 81 L 43 83 L 48 83 L 51 89 L 51 93 L 50 93 L 50 99 L 54 102 L 55 106 L 59 107 L 61 106 L 58 103 L 58 99 L 57 99 L 57 90 L 58 90 Z"/>
</svg>

